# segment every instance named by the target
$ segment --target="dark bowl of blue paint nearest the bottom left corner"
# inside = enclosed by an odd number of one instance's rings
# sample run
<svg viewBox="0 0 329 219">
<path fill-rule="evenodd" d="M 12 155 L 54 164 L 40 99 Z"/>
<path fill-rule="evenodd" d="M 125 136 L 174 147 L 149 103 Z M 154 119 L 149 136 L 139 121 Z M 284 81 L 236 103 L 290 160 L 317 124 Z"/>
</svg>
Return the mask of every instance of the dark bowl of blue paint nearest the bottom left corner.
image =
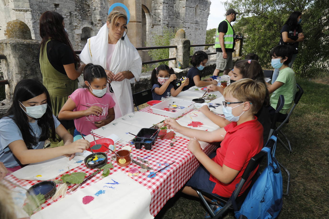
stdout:
<svg viewBox="0 0 329 219">
<path fill-rule="evenodd" d="M 43 181 L 34 184 L 26 191 L 26 196 L 29 195 L 44 195 L 44 199 L 47 200 L 51 198 L 56 192 L 56 183 L 54 181 Z"/>
</svg>

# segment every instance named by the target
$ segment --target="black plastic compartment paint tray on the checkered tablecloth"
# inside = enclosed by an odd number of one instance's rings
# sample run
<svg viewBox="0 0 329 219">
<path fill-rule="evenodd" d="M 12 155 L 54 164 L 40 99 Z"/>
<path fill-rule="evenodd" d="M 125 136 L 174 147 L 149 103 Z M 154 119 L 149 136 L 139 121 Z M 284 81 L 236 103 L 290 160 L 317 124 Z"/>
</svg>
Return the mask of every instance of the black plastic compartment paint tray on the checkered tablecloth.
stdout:
<svg viewBox="0 0 329 219">
<path fill-rule="evenodd" d="M 157 133 L 154 134 L 155 132 L 157 132 Z M 152 145 L 155 144 L 158 133 L 159 133 L 159 130 L 155 129 L 155 128 L 142 128 L 142 129 L 140 129 L 139 133 L 137 134 L 137 136 L 139 138 L 134 138 L 133 139 L 133 143 L 135 144 L 135 148 L 136 149 L 141 149 L 142 145 L 144 145 L 145 150 L 151 150 Z"/>
</svg>

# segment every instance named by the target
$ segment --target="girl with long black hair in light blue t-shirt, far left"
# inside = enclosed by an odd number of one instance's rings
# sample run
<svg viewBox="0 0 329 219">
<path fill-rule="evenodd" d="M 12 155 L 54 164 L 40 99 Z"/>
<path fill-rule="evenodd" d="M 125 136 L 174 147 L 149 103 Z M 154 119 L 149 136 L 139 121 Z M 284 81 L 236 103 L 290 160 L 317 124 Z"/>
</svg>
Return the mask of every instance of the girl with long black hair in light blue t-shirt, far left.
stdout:
<svg viewBox="0 0 329 219">
<path fill-rule="evenodd" d="M 50 96 L 40 82 L 24 79 L 17 83 L 13 105 L 0 119 L 0 162 L 9 172 L 23 164 L 46 161 L 62 155 L 70 156 L 89 148 L 87 140 L 73 142 L 51 110 Z M 48 138 L 59 135 L 64 146 L 44 149 Z M 12 169 L 11 169 L 12 168 Z"/>
</svg>

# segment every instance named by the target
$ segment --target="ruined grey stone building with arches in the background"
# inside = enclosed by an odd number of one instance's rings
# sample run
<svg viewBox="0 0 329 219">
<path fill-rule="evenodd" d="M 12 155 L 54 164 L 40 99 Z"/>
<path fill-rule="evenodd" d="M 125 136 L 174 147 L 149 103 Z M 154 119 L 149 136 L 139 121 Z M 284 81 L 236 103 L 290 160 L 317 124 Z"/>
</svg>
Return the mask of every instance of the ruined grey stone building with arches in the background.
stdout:
<svg viewBox="0 0 329 219">
<path fill-rule="evenodd" d="M 18 19 L 28 25 L 33 39 L 40 40 L 41 14 L 57 11 L 64 17 L 73 48 L 81 50 L 105 24 L 110 5 L 117 2 L 130 11 L 127 35 L 135 47 L 146 46 L 154 35 L 163 35 L 164 27 L 184 29 L 191 44 L 205 43 L 209 0 L 0 0 L 0 39 L 8 38 L 7 23 Z M 121 7 L 114 10 L 124 11 Z M 147 51 L 140 51 L 140 55 L 149 60 Z"/>
</svg>

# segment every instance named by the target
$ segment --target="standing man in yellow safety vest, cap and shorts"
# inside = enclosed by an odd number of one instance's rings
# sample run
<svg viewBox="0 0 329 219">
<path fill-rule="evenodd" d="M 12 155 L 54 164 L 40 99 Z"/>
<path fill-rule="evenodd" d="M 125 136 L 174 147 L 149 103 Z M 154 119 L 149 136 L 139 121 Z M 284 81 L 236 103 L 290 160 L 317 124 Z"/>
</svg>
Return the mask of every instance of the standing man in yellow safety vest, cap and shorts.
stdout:
<svg viewBox="0 0 329 219">
<path fill-rule="evenodd" d="M 234 52 L 234 44 L 238 39 L 234 40 L 234 30 L 231 22 L 236 20 L 239 14 L 234 9 L 226 11 L 226 19 L 220 22 L 216 32 L 215 48 L 217 52 L 216 69 L 214 75 L 218 76 L 219 71 L 224 71 L 227 75 L 233 69 L 232 53 Z"/>
</svg>

